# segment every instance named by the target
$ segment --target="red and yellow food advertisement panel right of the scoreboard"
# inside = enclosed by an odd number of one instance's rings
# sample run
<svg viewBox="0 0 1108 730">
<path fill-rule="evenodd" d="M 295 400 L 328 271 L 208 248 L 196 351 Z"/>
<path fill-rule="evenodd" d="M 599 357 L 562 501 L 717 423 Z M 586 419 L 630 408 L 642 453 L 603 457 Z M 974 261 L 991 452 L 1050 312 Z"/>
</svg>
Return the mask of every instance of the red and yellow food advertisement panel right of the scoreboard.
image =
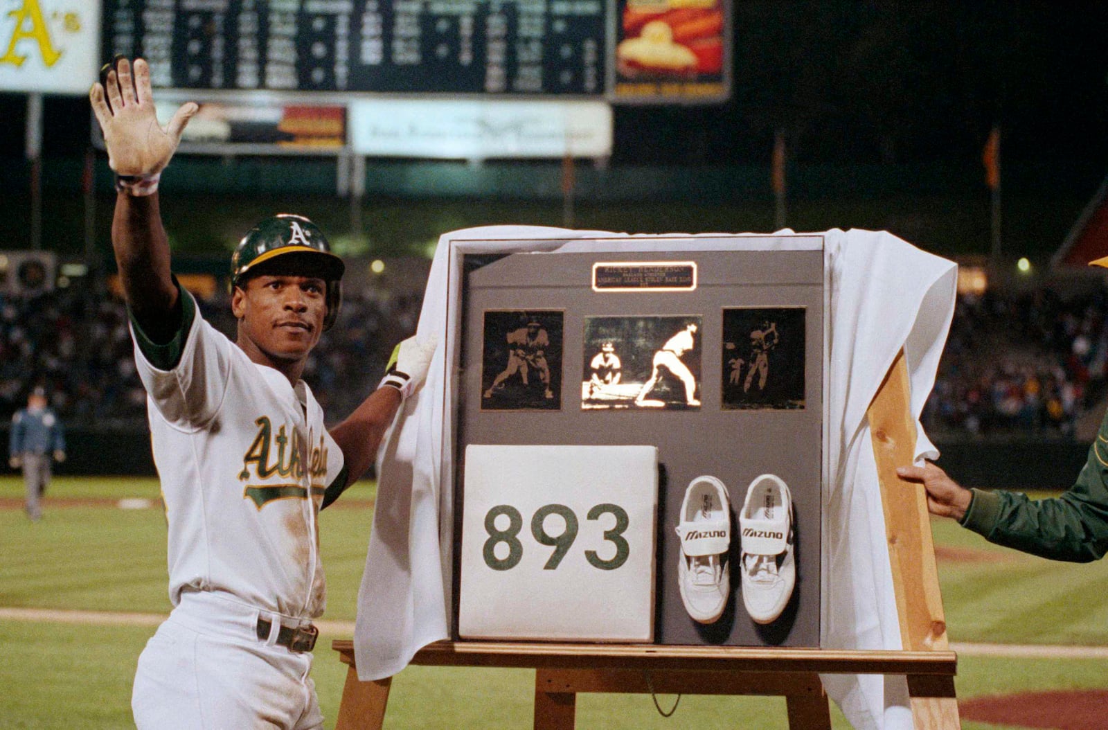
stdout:
<svg viewBox="0 0 1108 730">
<path fill-rule="evenodd" d="M 620 0 L 616 99 L 693 103 L 726 99 L 728 7 L 725 0 Z"/>
</svg>

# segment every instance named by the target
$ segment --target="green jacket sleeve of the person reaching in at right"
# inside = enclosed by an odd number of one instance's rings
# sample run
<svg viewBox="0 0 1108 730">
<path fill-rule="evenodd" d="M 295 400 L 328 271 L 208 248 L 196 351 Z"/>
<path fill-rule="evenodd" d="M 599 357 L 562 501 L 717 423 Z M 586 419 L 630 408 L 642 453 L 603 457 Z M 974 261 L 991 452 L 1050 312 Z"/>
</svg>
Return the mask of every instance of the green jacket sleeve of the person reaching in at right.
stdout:
<svg viewBox="0 0 1108 730">
<path fill-rule="evenodd" d="M 962 525 L 997 545 L 1054 561 L 1089 563 L 1108 553 L 1108 417 L 1077 481 L 1060 496 L 973 490 Z"/>
</svg>

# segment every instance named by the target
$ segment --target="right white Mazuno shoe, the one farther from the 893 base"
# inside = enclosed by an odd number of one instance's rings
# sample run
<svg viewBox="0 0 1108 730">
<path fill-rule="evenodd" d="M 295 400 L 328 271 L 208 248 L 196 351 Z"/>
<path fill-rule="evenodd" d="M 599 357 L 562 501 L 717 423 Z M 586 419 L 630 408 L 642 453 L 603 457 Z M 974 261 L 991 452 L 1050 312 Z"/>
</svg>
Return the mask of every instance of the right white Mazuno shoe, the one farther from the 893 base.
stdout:
<svg viewBox="0 0 1108 730">
<path fill-rule="evenodd" d="M 797 566 L 792 555 L 792 495 L 773 474 L 750 483 L 739 514 L 742 603 L 759 624 L 777 620 L 792 596 Z"/>
</svg>

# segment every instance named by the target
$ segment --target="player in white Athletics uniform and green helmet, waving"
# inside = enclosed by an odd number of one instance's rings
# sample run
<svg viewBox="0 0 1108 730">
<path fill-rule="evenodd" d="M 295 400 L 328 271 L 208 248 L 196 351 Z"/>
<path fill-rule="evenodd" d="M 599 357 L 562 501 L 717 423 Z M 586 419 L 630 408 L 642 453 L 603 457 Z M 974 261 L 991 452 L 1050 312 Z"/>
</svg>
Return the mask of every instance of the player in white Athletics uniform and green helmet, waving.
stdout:
<svg viewBox="0 0 1108 730">
<path fill-rule="evenodd" d="M 196 104 L 154 115 L 150 69 L 116 59 L 90 92 L 117 176 L 112 245 L 147 392 L 168 523 L 168 619 L 138 659 L 146 729 L 321 727 L 308 677 L 324 611 L 319 511 L 373 461 L 433 347 L 414 339 L 342 423 L 300 379 L 335 323 L 342 260 L 310 220 L 279 215 L 232 258 L 236 339 L 201 317 L 173 277 L 157 184 Z"/>
</svg>

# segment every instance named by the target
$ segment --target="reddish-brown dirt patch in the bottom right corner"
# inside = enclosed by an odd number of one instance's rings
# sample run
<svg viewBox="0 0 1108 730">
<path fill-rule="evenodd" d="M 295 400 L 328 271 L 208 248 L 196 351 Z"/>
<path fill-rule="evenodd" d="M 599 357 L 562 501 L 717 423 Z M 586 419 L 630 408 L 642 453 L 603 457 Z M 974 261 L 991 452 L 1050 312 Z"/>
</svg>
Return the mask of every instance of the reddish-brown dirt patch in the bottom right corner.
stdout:
<svg viewBox="0 0 1108 730">
<path fill-rule="evenodd" d="M 1044 730 L 1108 730 L 1108 690 L 1022 692 L 958 702 L 963 720 Z"/>
</svg>

